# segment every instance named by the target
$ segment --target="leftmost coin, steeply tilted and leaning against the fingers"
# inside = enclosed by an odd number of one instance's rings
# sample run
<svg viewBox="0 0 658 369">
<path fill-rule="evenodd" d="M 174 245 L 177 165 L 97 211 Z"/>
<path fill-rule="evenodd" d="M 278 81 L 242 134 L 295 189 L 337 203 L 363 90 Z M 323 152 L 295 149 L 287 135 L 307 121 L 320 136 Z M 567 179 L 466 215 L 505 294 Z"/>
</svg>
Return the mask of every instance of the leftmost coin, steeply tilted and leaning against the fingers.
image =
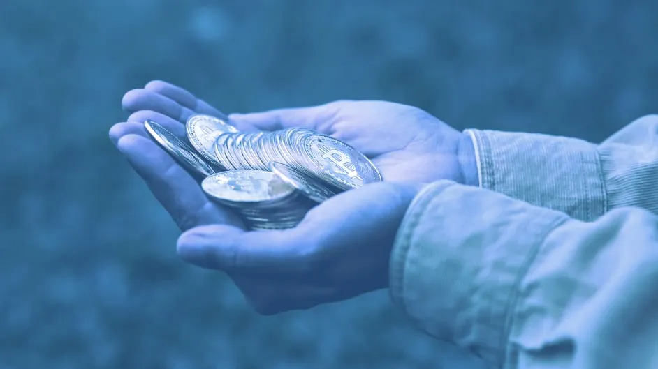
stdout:
<svg viewBox="0 0 658 369">
<path fill-rule="evenodd" d="M 170 156 L 175 158 L 175 160 L 177 160 L 178 163 L 181 163 L 187 170 L 193 171 L 194 174 L 202 174 L 203 176 L 211 176 L 215 173 L 215 170 L 205 163 L 205 161 L 194 152 L 194 149 L 192 149 L 189 144 L 163 126 L 152 120 L 145 121 L 144 126 L 155 142 L 157 142 L 169 153 Z"/>
</svg>

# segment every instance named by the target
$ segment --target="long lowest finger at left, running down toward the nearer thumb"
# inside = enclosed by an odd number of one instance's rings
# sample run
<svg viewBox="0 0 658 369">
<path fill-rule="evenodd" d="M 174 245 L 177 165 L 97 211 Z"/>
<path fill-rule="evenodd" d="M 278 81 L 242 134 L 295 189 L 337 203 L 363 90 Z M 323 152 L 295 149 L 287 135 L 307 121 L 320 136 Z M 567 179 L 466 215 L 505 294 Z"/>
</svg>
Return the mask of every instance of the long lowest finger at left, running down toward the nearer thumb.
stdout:
<svg viewBox="0 0 658 369">
<path fill-rule="evenodd" d="M 119 137 L 117 148 L 183 231 L 213 223 L 242 225 L 233 213 L 209 202 L 192 176 L 152 140 L 128 134 Z"/>
</svg>

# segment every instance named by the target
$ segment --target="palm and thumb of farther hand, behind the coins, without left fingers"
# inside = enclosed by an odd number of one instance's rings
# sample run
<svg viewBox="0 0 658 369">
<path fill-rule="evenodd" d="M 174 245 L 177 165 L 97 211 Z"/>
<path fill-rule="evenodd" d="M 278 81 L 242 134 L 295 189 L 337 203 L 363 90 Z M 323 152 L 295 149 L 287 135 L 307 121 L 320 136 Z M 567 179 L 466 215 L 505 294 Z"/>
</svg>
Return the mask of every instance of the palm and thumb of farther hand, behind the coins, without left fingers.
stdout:
<svg viewBox="0 0 658 369">
<path fill-rule="evenodd" d="M 343 100 L 230 118 L 261 130 L 305 127 L 335 137 L 370 158 L 384 181 L 464 182 L 458 158 L 464 135 L 416 107 Z"/>
</svg>

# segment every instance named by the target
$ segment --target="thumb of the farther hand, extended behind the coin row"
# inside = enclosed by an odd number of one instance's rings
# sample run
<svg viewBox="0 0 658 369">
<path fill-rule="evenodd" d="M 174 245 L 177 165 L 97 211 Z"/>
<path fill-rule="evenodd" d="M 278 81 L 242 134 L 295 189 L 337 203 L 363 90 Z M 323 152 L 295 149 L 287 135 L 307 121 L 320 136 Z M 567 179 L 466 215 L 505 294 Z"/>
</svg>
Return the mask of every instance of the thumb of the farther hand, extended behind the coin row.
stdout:
<svg viewBox="0 0 658 369">
<path fill-rule="evenodd" d="M 249 123 L 261 130 L 303 127 L 326 132 L 339 111 L 349 101 L 335 101 L 312 107 L 295 107 L 250 114 L 231 114 L 231 121 Z"/>
</svg>

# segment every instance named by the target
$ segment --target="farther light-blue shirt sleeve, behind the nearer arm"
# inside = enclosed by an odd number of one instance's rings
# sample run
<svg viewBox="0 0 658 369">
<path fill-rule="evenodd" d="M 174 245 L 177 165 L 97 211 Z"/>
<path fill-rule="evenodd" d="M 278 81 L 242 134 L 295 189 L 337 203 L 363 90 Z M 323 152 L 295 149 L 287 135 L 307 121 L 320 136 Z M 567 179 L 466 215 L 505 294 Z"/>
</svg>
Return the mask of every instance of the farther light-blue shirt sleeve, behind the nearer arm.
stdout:
<svg viewBox="0 0 658 369">
<path fill-rule="evenodd" d="M 601 144 L 568 137 L 466 130 L 479 186 L 591 221 L 635 206 L 658 213 L 658 115 L 634 121 Z"/>
</svg>

